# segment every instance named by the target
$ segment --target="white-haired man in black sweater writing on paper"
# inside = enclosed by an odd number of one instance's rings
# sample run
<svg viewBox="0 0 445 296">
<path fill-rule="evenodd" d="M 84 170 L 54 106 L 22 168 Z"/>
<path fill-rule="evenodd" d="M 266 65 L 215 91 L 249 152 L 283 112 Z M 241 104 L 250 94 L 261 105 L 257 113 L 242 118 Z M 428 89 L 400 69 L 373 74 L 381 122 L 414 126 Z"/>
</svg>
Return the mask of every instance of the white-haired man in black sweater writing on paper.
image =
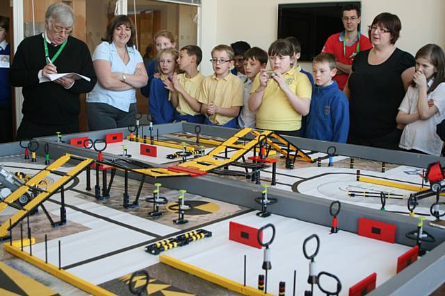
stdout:
<svg viewBox="0 0 445 296">
<path fill-rule="evenodd" d="M 17 48 L 10 82 L 23 87 L 23 119 L 17 140 L 79 132 L 79 95 L 96 84 L 88 46 L 72 36 L 74 13 L 64 3 L 54 3 L 45 13 L 45 32 L 28 37 Z M 48 75 L 79 73 L 50 81 Z"/>
</svg>

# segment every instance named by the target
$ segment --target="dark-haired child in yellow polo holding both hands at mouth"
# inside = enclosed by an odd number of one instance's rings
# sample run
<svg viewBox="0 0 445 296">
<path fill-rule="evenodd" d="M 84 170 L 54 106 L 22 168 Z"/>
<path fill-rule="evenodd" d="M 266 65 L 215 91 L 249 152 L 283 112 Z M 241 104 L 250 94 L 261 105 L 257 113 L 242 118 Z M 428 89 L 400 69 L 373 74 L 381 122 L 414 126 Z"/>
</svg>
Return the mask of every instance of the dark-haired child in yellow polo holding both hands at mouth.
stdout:
<svg viewBox="0 0 445 296">
<path fill-rule="evenodd" d="M 288 40 L 270 44 L 273 71 L 261 70 L 252 85 L 249 109 L 257 111 L 257 128 L 300 137 L 301 116 L 309 113 L 312 85 L 304 73 L 291 66 L 293 45 Z"/>
</svg>

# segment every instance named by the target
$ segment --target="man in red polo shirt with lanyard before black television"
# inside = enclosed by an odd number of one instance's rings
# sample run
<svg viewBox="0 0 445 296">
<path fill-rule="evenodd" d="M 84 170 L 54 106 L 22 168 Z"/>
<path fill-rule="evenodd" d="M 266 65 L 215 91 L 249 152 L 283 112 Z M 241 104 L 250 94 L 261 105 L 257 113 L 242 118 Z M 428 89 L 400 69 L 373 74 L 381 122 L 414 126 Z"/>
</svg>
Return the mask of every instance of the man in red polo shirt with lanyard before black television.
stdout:
<svg viewBox="0 0 445 296">
<path fill-rule="evenodd" d="M 327 38 L 325 46 L 321 50 L 323 53 L 332 53 L 337 59 L 337 75 L 334 76 L 334 80 L 337 81 L 339 89 L 343 89 L 346 85 L 355 55 L 359 51 L 373 47 L 369 38 L 360 34 L 359 24 L 362 19 L 358 6 L 354 4 L 343 6 L 341 20 L 345 31 Z"/>
</svg>

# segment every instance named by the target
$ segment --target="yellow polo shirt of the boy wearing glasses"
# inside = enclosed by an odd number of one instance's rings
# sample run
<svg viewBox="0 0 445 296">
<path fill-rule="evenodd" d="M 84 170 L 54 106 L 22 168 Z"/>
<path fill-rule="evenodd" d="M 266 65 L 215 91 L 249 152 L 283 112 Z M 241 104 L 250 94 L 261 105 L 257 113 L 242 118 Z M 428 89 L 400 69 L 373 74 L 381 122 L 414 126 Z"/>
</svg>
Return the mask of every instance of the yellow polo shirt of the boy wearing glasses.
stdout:
<svg viewBox="0 0 445 296">
<path fill-rule="evenodd" d="M 243 82 L 240 78 L 229 73 L 223 79 L 216 78 L 216 75 L 207 76 L 202 80 L 202 87 L 198 102 L 209 104 L 213 102 L 218 107 L 241 107 L 243 105 Z M 234 117 L 213 114 L 209 121 L 216 125 L 225 125 Z"/>
</svg>

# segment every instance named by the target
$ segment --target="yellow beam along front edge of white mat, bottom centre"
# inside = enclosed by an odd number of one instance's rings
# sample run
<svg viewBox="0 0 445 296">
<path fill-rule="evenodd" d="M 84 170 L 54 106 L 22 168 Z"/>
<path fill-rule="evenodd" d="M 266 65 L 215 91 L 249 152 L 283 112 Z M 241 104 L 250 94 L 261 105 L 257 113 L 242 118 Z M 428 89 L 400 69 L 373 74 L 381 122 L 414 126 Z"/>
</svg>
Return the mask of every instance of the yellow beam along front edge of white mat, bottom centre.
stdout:
<svg viewBox="0 0 445 296">
<path fill-rule="evenodd" d="M 216 275 L 213 272 L 209 272 L 202 268 L 198 268 L 194 265 L 185 263 L 184 261 L 180 261 L 170 256 L 166 256 L 165 254 L 159 256 L 159 261 L 161 261 L 164 264 L 170 265 L 172 268 L 188 272 L 189 274 L 194 275 L 195 277 L 200 277 L 201 279 L 210 281 L 213 284 L 217 284 L 218 286 L 222 286 L 224 288 L 235 291 L 236 293 L 240 293 L 242 295 L 272 296 L 272 294 L 269 293 L 266 294 L 264 293 L 264 291 L 252 288 L 250 286 L 244 286 L 243 284 L 240 284 L 236 281 L 232 281 L 231 279 L 221 277 L 220 275 Z"/>
</svg>

